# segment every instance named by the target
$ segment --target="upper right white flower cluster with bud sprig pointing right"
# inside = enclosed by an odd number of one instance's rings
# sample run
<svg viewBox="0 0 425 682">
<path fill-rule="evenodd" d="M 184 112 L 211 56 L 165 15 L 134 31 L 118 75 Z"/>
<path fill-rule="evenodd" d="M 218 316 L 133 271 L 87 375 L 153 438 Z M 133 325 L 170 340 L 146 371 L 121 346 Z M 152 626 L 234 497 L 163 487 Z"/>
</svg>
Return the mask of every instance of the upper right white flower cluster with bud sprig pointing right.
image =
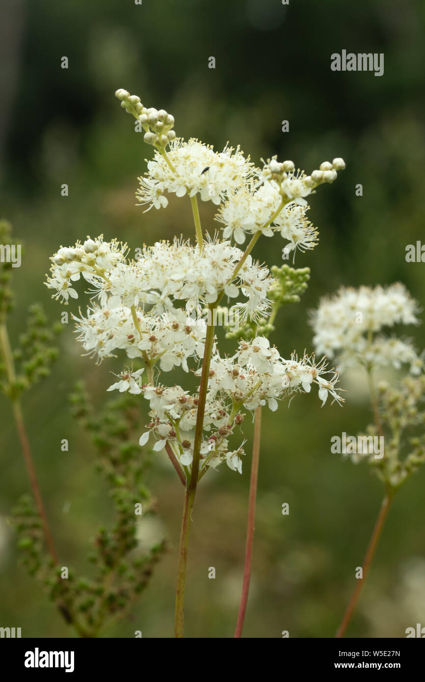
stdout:
<svg viewBox="0 0 425 682">
<path fill-rule="evenodd" d="M 224 239 L 233 237 L 239 244 L 246 235 L 261 231 L 272 237 L 274 231 L 289 241 L 285 252 L 304 252 L 317 245 L 317 231 L 306 218 L 306 196 L 324 182 L 333 182 L 337 170 L 345 168 L 342 159 L 323 162 L 311 175 L 295 171 L 292 161 L 279 163 L 274 157 L 262 171 L 256 169 L 257 181 L 229 194 L 220 206 L 216 219 L 224 223 Z M 294 254 L 295 255 L 295 254 Z"/>
</svg>

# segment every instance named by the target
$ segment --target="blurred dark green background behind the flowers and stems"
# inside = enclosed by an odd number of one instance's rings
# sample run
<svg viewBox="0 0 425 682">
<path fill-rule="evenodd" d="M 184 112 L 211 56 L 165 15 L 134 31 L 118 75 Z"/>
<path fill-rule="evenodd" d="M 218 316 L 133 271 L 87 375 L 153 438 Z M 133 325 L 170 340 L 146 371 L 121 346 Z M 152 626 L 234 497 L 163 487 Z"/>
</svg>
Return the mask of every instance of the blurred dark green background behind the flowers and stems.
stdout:
<svg viewBox="0 0 425 682">
<path fill-rule="evenodd" d="M 297 254 L 312 270 L 302 303 L 284 310 L 272 341 L 288 356 L 312 349 L 308 310 L 341 284 L 400 280 L 422 306 L 424 265 L 406 263 L 405 247 L 424 238 L 425 4 L 423 0 L 3 0 L 0 20 L 1 217 L 25 245 L 14 271 L 16 339 L 27 306 L 42 301 L 50 319 L 62 310 L 44 287 L 48 256 L 76 239 L 104 233 L 131 248 L 173 235 L 192 237 L 186 199 L 143 213 L 137 175 L 151 147 L 114 98 L 123 87 L 145 106 L 166 108 L 178 135 L 218 149 L 240 144 L 252 160 L 277 153 L 310 172 L 342 156 L 347 170 L 312 199 L 319 246 Z M 385 72 L 332 72 L 330 55 L 384 53 Z M 61 69 L 61 57 L 69 59 Z M 215 70 L 208 58 L 216 57 Z M 282 120 L 289 132 L 282 133 Z M 68 183 L 69 196 L 61 196 Z M 363 196 L 355 196 L 362 183 Z M 214 207 L 201 205 L 214 231 Z M 280 237 L 256 256 L 281 265 Z M 85 304 L 84 296 L 81 301 Z M 70 307 L 76 312 L 78 304 Z M 408 330 L 410 333 L 410 330 Z M 424 346 L 423 328 L 411 331 Z M 50 379 L 25 396 L 24 409 L 40 483 L 63 565 L 87 570 L 89 539 L 111 518 L 93 471 L 94 450 L 70 417 L 68 394 L 87 381 L 100 406 L 110 371 L 123 358 L 80 356 L 72 323 L 61 336 Z M 321 409 L 317 395 L 265 411 L 252 589 L 244 636 L 332 637 L 354 587 L 381 501 L 366 466 L 330 454 L 330 438 L 370 421 L 360 376 L 342 376 L 345 406 Z M 28 489 L 10 405 L 0 401 L 0 625 L 23 636 L 73 636 L 40 585 L 17 567 L 7 518 Z M 250 421 L 246 419 L 246 423 Z M 247 424 L 249 438 L 252 425 Z M 61 439 L 70 441 L 62 452 Z M 248 449 L 249 451 L 249 449 Z M 241 588 L 250 457 L 242 476 L 223 467 L 203 479 L 194 511 L 188 564 L 186 636 L 233 636 Z M 425 471 L 398 493 L 348 634 L 403 637 L 425 625 Z M 182 490 L 156 455 L 149 487 L 158 497 L 171 551 L 157 567 L 132 618 L 106 634 L 173 636 L 175 569 Z M 289 516 L 282 516 L 282 503 Z M 149 529 L 148 529 L 149 530 Z M 208 569 L 216 568 L 209 580 Z"/>
</svg>

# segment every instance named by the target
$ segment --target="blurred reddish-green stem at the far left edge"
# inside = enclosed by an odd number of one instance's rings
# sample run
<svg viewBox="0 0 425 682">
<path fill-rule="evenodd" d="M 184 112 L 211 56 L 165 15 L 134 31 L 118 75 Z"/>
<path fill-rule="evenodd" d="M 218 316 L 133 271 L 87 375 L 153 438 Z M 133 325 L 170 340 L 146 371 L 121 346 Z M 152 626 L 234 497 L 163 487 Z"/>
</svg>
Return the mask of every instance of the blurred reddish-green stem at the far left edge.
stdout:
<svg viewBox="0 0 425 682">
<path fill-rule="evenodd" d="M 42 528 L 44 533 L 44 539 L 46 541 L 46 546 L 48 552 L 53 559 L 53 563 L 58 564 L 59 559 L 57 557 L 57 551 L 55 548 L 55 543 L 53 542 L 52 533 L 50 533 L 50 527 L 47 520 L 46 511 L 44 509 L 44 503 L 42 499 L 42 494 L 40 492 L 40 486 L 38 485 L 37 475 L 35 473 L 35 467 L 33 463 L 33 458 L 31 455 L 31 448 L 29 447 L 29 440 L 27 436 L 27 430 L 25 428 L 25 421 L 23 417 L 23 411 L 20 406 L 20 400 L 14 395 L 14 384 L 16 383 L 16 374 L 13 361 L 12 350 L 10 348 L 10 340 L 8 334 L 8 328 L 5 323 L 0 325 L 0 348 L 1 355 L 3 357 L 3 362 L 5 365 L 6 375 L 8 376 L 8 381 L 11 388 L 11 400 L 13 406 L 14 419 L 16 423 L 16 429 L 18 431 L 18 436 L 20 439 L 20 445 L 22 447 L 23 456 L 25 460 L 25 466 L 27 467 L 27 473 L 29 477 L 29 483 L 31 485 L 31 490 L 33 491 L 33 497 L 35 500 L 35 506 L 37 507 L 38 515 L 42 521 Z"/>
</svg>

